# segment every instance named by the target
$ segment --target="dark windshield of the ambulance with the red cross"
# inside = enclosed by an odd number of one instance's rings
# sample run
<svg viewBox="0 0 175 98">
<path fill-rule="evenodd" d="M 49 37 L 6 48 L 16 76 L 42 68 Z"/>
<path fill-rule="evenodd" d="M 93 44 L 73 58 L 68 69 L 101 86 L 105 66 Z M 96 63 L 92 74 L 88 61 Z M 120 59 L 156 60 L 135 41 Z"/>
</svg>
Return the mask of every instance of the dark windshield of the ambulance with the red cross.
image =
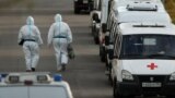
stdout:
<svg viewBox="0 0 175 98">
<path fill-rule="evenodd" d="M 173 35 L 125 35 L 121 59 L 175 59 Z"/>
</svg>

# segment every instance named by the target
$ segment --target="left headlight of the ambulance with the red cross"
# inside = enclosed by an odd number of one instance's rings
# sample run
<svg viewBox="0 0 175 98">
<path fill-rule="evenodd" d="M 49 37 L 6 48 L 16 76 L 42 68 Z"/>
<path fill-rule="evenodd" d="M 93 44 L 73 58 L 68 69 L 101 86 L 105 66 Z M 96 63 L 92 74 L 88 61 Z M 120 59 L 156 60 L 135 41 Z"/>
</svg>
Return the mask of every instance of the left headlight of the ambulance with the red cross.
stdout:
<svg viewBox="0 0 175 98">
<path fill-rule="evenodd" d="M 121 76 L 124 81 L 133 81 L 132 74 L 126 70 L 121 71 Z"/>
</svg>

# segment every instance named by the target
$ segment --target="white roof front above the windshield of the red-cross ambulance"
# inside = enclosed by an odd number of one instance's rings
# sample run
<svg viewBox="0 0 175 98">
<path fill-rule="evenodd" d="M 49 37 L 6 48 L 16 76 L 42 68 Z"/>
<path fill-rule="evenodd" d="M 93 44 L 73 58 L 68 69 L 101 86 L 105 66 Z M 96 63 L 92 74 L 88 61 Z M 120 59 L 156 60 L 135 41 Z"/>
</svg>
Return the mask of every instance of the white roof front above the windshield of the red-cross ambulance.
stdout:
<svg viewBox="0 0 175 98">
<path fill-rule="evenodd" d="M 175 36 L 175 25 L 164 23 L 122 23 L 119 25 L 119 30 L 122 35 L 159 34 Z"/>
</svg>

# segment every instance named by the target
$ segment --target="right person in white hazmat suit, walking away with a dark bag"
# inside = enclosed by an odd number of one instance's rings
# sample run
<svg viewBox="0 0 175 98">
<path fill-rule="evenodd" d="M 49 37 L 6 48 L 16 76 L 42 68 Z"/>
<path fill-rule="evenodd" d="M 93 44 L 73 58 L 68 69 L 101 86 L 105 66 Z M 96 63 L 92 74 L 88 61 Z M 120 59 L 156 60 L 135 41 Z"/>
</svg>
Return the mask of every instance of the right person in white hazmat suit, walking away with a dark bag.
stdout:
<svg viewBox="0 0 175 98">
<path fill-rule="evenodd" d="M 72 42 L 72 34 L 69 25 L 62 22 L 60 14 L 55 15 L 55 23 L 51 24 L 48 32 L 48 46 L 52 44 L 57 70 L 65 71 L 66 65 L 68 64 L 68 51 L 67 47 Z"/>
</svg>

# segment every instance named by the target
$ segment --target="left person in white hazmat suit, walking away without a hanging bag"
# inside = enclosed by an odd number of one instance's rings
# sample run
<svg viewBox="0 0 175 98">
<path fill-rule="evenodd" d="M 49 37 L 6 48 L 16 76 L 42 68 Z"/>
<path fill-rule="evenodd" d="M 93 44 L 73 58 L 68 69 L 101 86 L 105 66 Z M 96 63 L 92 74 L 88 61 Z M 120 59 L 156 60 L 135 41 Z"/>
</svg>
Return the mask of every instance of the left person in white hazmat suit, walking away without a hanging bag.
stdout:
<svg viewBox="0 0 175 98">
<path fill-rule="evenodd" d="M 24 39 L 22 47 L 25 54 L 26 71 L 34 72 L 39 60 L 39 46 L 43 44 L 43 39 L 32 16 L 26 19 L 26 25 L 20 29 L 18 42 L 22 39 Z"/>
</svg>

